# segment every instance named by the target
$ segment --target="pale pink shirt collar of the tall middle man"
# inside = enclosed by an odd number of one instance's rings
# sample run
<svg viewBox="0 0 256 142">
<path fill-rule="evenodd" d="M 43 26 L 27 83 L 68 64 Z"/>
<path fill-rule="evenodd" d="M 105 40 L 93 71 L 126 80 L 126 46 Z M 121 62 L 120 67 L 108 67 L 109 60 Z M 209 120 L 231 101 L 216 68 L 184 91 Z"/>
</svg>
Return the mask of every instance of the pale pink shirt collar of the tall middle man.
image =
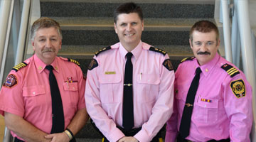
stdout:
<svg viewBox="0 0 256 142">
<path fill-rule="evenodd" d="M 125 55 L 128 53 L 128 51 L 124 48 L 124 46 L 120 43 L 119 44 L 119 51 L 122 55 L 122 57 L 125 59 Z M 132 55 L 137 60 L 139 58 L 139 55 L 142 53 L 142 40 L 139 42 L 139 44 L 132 50 Z"/>
</svg>

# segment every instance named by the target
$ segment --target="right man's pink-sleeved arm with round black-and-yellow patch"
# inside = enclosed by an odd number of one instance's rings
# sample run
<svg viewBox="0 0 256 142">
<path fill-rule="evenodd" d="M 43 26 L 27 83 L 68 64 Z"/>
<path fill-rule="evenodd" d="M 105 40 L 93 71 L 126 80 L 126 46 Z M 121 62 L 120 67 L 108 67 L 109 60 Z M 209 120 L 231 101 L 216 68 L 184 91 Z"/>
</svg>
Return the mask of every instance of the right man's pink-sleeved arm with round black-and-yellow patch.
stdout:
<svg viewBox="0 0 256 142">
<path fill-rule="evenodd" d="M 224 107 L 230 119 L 230 141 L 249 142 L 252 128 L 252 88 L 241 74 L 242 72 L 233 77 L 231 81 L 225 82 Z M 236 97 L 235 92 L 231 89 L 232 84 L 237 80 L 242 80 L 245 84 L 244 97 Z M 238 84 L 240 82 L 237 82 Z M 237 94 L 240 93 L 237 92 Z"/>
</svg>

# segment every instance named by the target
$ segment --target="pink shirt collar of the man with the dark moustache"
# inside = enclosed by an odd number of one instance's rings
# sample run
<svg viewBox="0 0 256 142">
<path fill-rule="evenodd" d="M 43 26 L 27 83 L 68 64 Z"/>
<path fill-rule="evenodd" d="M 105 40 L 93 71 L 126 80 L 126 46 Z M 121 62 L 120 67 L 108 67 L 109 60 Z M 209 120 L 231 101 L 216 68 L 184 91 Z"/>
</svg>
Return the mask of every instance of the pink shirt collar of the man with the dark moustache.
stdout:
<svg viewBox="0 0 256 142">
<path fill-rule="evenodd" d="M 203 75 L 207 76 L 211 70 L 213 70 L 213 67 L 216 65 L 216 63 L 218 62 L 218 60 L 220 59 L 220 55 L 218 55 L 218 53 L 216 53 L 215 57 L 210 60 L 210 62 L 206 63 L 205 65 L 199 65 L 198 62 L 196 62 L 196 68 L 200 67 Z"/>
</svg>

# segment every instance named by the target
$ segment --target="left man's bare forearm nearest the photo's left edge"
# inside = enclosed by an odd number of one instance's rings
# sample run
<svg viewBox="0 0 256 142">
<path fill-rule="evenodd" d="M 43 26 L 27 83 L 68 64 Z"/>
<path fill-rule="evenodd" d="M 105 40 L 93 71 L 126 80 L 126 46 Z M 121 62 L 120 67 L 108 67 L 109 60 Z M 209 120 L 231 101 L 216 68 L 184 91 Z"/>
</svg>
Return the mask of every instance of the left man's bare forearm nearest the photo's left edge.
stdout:
<svg viewBox="0 0 256 142">
<path fill-rule="evenodd" d="M 14 131 L 14 133 L 23 138 L 25 141 L 50 141 L 50 139 L 44 138 L 47 133 L 37 129 L 28 121 L 24 120 L 21 116 L 5 112 L 4 121 L 9 130 Z"/>
</svg>

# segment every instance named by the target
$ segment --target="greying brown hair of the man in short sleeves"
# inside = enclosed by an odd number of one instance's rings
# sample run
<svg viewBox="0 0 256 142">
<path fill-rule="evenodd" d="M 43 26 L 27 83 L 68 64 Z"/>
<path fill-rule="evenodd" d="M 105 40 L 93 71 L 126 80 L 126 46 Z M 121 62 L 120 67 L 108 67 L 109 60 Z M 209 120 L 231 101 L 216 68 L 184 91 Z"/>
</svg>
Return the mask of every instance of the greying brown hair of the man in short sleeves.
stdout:
<svg viewBox="0 0 256 142">
<path fill-rule="evenodd" d="M 36 32 L 41 29 L 41 28 L 56 28 L 58 34 L 60 35 L 60 39 L 62 39 L 62 33 L 60 30 L 60 24 L 53 20 L 52 18 L 48 18 L 48 17 L 41 17 L 38 18 L 32 25 L 31 27 L 31 40 L 34 40 L 35 36 L 36 36 Z"/>
</svg>

